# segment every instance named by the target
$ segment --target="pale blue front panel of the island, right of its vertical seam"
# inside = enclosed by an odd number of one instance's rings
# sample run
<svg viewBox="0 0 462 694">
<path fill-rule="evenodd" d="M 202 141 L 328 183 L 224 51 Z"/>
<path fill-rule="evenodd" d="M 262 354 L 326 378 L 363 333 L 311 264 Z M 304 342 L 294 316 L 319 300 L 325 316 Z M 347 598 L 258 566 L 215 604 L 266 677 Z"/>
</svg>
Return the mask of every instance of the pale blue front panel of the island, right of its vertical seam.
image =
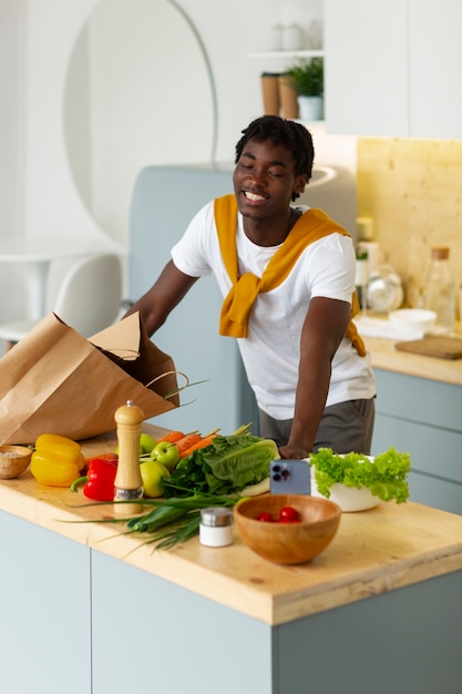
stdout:
<svg viewBox="0 0 462 694">
<path fill-rule="evenodd" d="M 92 586 L 93 694 L 275 692 L 267 624 L 94 551 Z"/>
</svg>

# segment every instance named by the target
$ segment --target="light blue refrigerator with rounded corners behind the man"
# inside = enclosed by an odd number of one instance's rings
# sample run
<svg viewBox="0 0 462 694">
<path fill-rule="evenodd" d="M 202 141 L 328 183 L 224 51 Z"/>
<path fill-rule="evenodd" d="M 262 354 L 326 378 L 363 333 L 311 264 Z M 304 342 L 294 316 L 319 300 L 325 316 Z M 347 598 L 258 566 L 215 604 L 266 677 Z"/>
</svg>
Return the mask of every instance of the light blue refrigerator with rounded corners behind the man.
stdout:
<svg viewBox="0 0 462 694">
<path fill-rule="evenodd" d="M 147 166 L 140 172 L 130 210 L 131 300 L 155 282 L 194 214 L 214 197 L 233 193 L 232 175 L 230 163 Z M 352 175 L 343 170 L 318 167 L 310 186 L 300 202 L 325 208 L 353 233 Z M 251 422 L 253 433 L 258 435 L 257 407 L 237 341 L 218 335 L 222 303 L 214 276 L 203 277 L 152 337 L 173 358 L 178 386 L 186 385 L 185 377 L 189 385 L 181 391 L 181 406 L 150 419 L 151 423 L 184 432 L 198 430 L 203 435 L 219 429 L 227 435 Z"/>
</svg>

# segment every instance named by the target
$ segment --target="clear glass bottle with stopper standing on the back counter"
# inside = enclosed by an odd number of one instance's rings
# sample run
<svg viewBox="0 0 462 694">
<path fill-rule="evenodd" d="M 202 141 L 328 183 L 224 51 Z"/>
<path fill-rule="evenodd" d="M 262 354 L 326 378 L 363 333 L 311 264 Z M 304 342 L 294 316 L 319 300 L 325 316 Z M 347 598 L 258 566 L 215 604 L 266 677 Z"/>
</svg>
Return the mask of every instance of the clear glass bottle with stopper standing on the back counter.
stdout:
<svg viewBox="0 0 462 694">
<path fill-rule="evenodd" d="M 453 333 L 455 318 L 454 279 L 449 265 L 449 248 L 431 249 L 427 277 L 425 307 L 437 314 L 435 331 Z"/>
</svg>

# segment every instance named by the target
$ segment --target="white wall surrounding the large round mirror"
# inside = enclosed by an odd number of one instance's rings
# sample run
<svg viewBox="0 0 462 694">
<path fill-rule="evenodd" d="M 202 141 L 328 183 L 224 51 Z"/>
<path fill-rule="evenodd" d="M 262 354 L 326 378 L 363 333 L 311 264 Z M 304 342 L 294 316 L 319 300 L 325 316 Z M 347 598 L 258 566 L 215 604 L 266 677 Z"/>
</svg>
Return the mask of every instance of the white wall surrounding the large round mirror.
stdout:
<svg viewBox="0 0 462 694">
<path fill-rule="evenodd" d="M 0 236 L 101 237 L 107 231 L 95 223 L 74 186 L 63 127 L 70 54 L 97 2 L 0 2 L 0 78 L 6 95 L 0 112 Z M 270 28 L 279 21 L 308 27 L 319 18 L 322 0 L 178 0 L 177 4 L 196 24 L 208 52 L 218 98 L 217 160 L 230 161 L 242 129 L 261 114 L 259 74 L 275 69 L 249 53 L 269 48 Z M 284 67 L 278 62 L 276 68 Z M 135 140 L 136 130 L 132 134 Z M 351 141 L 332 144 L 319 133 L 317 152 L 319 162 L 355 165 Z M 116 195 L 111 191 L 104 204 L 111 207 L 111 196 Z M 120 239 L 126 242 L 123 235 Z M 20 294 L 8 306 L 0 303 L 1 320 L 18 310 L 16 304 L 21 305 Z"/>
</svg>

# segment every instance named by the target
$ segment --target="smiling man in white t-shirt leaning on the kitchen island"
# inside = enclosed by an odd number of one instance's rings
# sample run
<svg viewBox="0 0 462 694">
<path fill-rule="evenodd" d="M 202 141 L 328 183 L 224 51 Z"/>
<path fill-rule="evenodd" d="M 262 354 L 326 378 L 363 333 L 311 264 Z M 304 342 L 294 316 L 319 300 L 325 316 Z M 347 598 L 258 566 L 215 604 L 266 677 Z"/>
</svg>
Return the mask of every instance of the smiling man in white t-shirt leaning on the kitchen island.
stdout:
<svg viewBox="0 0 462 694">
<path fill-rule="evenodd" d="M 291 204 L 312 161 L 302 125 L 277 116 L 250 123 L 236 145 L 234 195 L 197 213 L 129 312 L 138 310 L 153 335 L 213 272 L 224 296 L 220 334 L 238 340 L 260 436 L 290 459 L 319 447 L 369 453 L 374 418 L 370 359 L 351 323 L 351 237 L 324 212 Z"/>
</svg>

